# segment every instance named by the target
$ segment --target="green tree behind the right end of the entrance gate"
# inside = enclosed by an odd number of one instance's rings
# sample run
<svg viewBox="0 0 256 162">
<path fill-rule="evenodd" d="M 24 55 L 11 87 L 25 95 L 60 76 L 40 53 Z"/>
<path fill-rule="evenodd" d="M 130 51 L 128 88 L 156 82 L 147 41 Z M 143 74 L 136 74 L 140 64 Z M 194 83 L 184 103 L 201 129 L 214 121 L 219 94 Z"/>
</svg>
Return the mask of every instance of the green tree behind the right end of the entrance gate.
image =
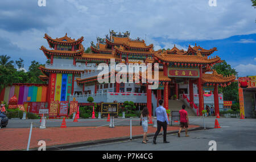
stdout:
<svg viewBox="0 0 256 162">
<path fill-rule="evenodd" d="M 237 77 L 238 75 L 236 69 L 231 68 L 231 66 L 227 64 L 225 60 L 223 60 L 222 63 L 215 64 L 212 69 L 216 70 L 218 74 L 222 74 L 223 76 L 230 76 L 233 74 Z M 229 86 L 226 87 L 219 87 L 218 92 L 223 93 L 225 101 L 238 101 L 237 82 L 232 82 Z"/>
</svg>

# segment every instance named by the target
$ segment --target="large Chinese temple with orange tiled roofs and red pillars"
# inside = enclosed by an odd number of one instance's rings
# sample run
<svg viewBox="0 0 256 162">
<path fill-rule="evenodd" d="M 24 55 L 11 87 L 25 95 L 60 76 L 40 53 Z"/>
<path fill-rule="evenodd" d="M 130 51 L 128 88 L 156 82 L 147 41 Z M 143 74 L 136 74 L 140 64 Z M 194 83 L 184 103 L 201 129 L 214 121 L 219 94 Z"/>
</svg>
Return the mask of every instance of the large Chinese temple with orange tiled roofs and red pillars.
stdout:
<svg viewBox="0 0 256 162">
<path fill-rule="evenodd" d="M 73 98 L 79 103 L 86 103 L 87 98 L 92 96 L 98 104 L 133 101 L 136 105 L 147 106 L 150 114 L 154 115 L 159 99 L 163 99 L 164 107 L 171 110 L 174 108 L 169 103 L 179 99 L 196 115 L 202 115 L 201 111 L 207 104 L 214 105 L 217 115 L 219 109 L 223 109 L 223 96 L 218 93 L 218 87 L 228 86 L 236 79 L 235 76 L 222 76 L 212 69 L 214 64 L 221 63 L 220 57 L 210 56 L 217 51 L 216 47 L 204 49 L 195 44 L 189 45 L 187 51 L 184 51 L 174 45 L 167 51 L 154 51 L 153 44 L 146 45 L 141 38 L 131 39 L 130 32 L 117 34 L 112 30 L 105 38 L 97 38 L 96 44 L 92 41 L 92 53 L 85 53 L 83 37 L 75 40 L 66 34 L 54 39 L 45 34 L 44 38 L 50 49 L 44 46 L 40 49 L 50 60 L 50 64 L 40 67 L 44 75 L 39 78 L 47 82 L 47 90 L 44 89 L 43 92 L 46 93 L 44 101 L 48 104 L 53 101 L 70 102 Z M 110 64 L 111 59 L 115 59 L 116 64 L 126 65 L 158 63 L 158 89 L 149 89 L 148 83 L 100 84 L 97 75 L 101 71 L 97 69 L 97 65 Z M 116 74 L 117 72 L 110 72 L 108 77 Z M 138 77 L 141 79 L 142 75 Z M 135 79 L 138 78 L 134 76 Z M 36 99 L 38 100 L 40 99 Z M 25 102 L 26 99 L 22 101 Z"/>
</svg>

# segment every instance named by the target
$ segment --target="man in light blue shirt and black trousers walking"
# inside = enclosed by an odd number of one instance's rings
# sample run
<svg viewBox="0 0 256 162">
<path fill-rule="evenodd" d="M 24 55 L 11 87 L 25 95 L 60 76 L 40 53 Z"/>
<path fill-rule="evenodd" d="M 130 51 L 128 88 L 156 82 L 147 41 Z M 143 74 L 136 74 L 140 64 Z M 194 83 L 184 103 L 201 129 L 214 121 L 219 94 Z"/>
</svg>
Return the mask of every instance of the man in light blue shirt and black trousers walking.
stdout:
<svg viewBox="0 0 256 162">
<path fill-rule="evenodd" d="M 163 143 L 169 143 L 168 141 L 166 141 L 167 125 L 169 124 L 166 109 L 164 109 L 163 107 L 162 99 L 160 99 L 158 103 L 159 103 L 159 107 L 156 107 L 156 110 L 155 110 L 156 119 L 158 123 L 158 130 L 156 130 L 155 132 L 153 143 L 156 144 L 156 137 L 158 136 L 161 130 L 161 127 L 163 127 L 163 132 L 164 132 Z"/>
</svg>

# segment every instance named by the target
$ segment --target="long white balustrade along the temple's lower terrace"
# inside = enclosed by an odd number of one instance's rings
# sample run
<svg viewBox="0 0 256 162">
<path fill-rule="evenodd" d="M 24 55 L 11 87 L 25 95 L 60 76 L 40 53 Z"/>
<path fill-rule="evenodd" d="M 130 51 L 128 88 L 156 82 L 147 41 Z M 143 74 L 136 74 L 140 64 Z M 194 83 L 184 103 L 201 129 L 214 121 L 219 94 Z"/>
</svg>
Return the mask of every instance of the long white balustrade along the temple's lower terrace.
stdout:
<svg viewBox="0 0 256 162">
<path fill-rule="evenodd" d="M 133 101 L 134 103 L 147 103 L 147 94 L 146 93 L 115 93 L 115 92 L 106 92 L 106 93 L 96 93 L 96 94 L 82 94 L 82 95 L 71 95 L 69 98 L 76 98 L 76 101 L 79 103 L 88 103 L 87 98 L 93 97 L 96 103 L 100 102 L 125 102 Z"/>
</svg>

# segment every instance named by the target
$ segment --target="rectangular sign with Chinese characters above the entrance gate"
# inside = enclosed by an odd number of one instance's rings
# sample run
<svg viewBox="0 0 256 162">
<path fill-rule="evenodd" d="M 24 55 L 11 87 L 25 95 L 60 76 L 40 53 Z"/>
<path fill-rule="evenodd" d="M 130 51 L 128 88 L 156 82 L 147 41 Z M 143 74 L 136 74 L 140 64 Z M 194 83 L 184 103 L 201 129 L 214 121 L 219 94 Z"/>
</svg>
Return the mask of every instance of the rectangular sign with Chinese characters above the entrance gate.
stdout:
<svg viewBox="0 0 256 162">
<path fill-rule="evenodd" d="M 199 77 L 199 69 L 168 68 L 168 77 Z"/>
</svg>

